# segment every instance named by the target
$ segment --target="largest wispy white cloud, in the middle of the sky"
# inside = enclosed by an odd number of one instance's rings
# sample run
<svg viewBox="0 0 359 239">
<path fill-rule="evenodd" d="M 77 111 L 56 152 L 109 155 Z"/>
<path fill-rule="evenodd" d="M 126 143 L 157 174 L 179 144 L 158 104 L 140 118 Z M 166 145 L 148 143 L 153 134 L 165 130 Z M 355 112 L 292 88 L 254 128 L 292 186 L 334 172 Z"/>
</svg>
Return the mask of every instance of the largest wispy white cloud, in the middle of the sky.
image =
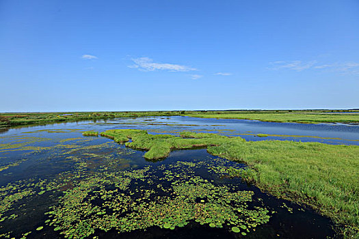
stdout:
<svg viewBox="0 0 359 239">
<path fill-rule="evenodd" d="M 139 57 L 132 59 L 132 61 L 134 64 L 129 66 L 129 68 L 137 68 L 143 71 L 168 70 L 170 72 L 189 72 L 197 70 L 189 66 L 153 62 L 153 60 L 148 57 Z"/>
</svg>

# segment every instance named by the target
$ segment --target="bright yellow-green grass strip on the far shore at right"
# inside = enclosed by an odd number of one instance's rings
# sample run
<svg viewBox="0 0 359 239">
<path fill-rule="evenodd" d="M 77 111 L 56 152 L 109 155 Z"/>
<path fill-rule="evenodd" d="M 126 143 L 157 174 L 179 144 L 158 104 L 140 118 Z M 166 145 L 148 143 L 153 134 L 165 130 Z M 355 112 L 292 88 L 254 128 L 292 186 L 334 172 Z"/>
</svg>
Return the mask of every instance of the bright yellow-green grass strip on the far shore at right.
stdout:
<svg viewBox="0 0 359 239">
<path fill-rule="evenodd" d="M 265 122 L 293 122 L 304 124 L 319 124 L 319 123 L 345 123 L 345 124 L 359 124 L 359 114 L 355 113 L 202 113 L 202 114 L 187 114 L 191 117 L 215 118 L 215 119 L 254 119 Z"/>
</svg>

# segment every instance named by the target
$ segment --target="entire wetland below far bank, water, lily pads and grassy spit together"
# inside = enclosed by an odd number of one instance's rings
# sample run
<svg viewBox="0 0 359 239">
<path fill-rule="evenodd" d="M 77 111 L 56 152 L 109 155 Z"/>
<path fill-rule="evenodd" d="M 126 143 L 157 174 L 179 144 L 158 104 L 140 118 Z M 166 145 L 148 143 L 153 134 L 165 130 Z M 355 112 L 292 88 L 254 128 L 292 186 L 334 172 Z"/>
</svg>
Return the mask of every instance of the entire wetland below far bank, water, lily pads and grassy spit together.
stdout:
<svg viewBox="0 0 359 239">
<path fill-rule="evenodd" d="M 150 116 L 0 133 L 0 238 L 358 235 L 359 127 Z"/>
</svg>

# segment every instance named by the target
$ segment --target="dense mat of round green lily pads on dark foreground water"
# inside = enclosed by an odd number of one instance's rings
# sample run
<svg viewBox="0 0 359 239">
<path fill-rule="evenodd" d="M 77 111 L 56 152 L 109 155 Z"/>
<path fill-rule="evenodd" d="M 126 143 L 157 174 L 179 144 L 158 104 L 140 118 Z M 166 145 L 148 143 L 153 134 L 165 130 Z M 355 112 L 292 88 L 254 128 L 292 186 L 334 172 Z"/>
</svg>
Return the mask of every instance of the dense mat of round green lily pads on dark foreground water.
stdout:
<svg viewBox="0 0 359 239">
<path fill-rule="evenodd" d="M 152 226 L 174 229 L 191 221 L 210 227 L 222 228 L 226 223 L 245 226 L 245 231 L 250 232 L 269 220 L 265 208 L 248 208 L 253 192 L 232 192 L 228 186 L 215 186 L 194 175 L 196 167 L 178 162 L 163 165 L 159 171 L 145 167 L 92 175 L 64 192 L 59 205 L 49 211 L 52 219 L 49 225 L 66 238 L 69 235 L 83 238 L 96 229 L 114 228 L 119 232 Z M 173 173 L 174 169 L 178 173 Z M 161 178 L 156 176 L 162 171 Z M 170 186 L 163 188 L 159 181 Z M 160 196 L 159 191 L 165 195 Z"/>
</svg>

